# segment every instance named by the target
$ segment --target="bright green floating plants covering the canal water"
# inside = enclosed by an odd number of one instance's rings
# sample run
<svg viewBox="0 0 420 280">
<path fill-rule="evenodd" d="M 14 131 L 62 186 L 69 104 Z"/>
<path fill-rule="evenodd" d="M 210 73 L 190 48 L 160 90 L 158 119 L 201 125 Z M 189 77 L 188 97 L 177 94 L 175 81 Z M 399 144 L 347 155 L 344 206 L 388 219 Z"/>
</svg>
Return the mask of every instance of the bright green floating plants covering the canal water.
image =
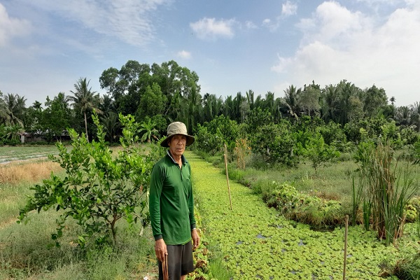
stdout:
<svg viewBox="0 0 420 280">
<path fill-rule="evenodd" d="M 308 225 L 286 220 L 269 209 L 260 195 L 230 182 L 229 207 L 225 176 L 220 169 L 188 153 L 193 167 L 197 204 L 204 235 L 218 246 L 233 279 L 342 279 L 344 228 L 317 232 Z M 395 246 L 378 241 L 376 232 L 349 228 L 346 276 L 348 279 L 382 279 L 402 253 L 419 251 L 414 225 Z"/>
</svg>

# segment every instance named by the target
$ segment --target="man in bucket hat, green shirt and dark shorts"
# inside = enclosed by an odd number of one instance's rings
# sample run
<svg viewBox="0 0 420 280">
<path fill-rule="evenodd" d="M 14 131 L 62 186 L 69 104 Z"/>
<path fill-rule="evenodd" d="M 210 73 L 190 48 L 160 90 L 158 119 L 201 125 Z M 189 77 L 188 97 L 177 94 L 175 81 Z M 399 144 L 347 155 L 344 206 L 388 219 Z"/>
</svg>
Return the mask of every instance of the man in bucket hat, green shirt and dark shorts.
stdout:
<svg viewBox="0 0 420 280">
<path fill-rule="evenodd" d="M 194 270 L 192 247 L 200 245 L 200 237 L 195 228 L 191 167 L 183 156 L 186 146 L 194 141 L 183 123 L 168 125 L 167 138 L 160 146 L 169 150 L 151 174 L 149 210 L 160 280 L 165 258 L 171 280 L 186 279 Z"/>
</svg>

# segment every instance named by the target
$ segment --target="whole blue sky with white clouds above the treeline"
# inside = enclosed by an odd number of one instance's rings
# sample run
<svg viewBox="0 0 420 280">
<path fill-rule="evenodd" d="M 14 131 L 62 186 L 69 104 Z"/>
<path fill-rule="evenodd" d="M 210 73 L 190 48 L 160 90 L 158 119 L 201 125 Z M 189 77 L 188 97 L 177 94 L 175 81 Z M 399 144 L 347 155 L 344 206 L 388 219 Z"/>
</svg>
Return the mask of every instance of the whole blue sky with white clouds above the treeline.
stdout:
<svg viewBox="0 0 420 280">
<path fill-rule="evenodd" d="M 27 106 L 128 60 L 174 59 L 201 94 L 348 80 L 420 102 L 419 0 L 0 0 L 0 90 Z"/>
</svg>

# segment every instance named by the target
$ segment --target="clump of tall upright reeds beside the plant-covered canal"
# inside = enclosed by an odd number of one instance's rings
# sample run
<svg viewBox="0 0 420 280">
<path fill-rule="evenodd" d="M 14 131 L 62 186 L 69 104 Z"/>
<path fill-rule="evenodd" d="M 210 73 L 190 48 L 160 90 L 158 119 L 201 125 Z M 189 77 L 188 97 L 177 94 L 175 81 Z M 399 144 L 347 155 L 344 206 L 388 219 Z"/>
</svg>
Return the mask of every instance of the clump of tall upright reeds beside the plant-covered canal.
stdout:
<svg viewBox="0 0 420 280">
<path fill-rule="evenodd" d="M 414 184 L 409 162 L 400 167 L 389 145 L 365 147 L 360 161 L 359 186 L 363 191 L 363 221 L 365 228 L 372 221 L 379 239 L 391 244 L 400 235 L 405 223 L 404 208 L 419 191 Z"/>
</svg>

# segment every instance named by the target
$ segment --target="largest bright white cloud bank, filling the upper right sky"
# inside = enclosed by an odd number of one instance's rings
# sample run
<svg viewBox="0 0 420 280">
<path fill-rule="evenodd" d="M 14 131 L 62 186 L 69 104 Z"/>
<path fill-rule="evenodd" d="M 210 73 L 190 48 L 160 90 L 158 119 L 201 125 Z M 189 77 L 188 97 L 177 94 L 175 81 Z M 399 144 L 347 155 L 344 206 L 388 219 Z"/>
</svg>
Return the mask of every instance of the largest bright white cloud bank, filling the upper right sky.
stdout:
<svg viewBox="0 0 420 280">
<path fill-rule="evenodd" d="M 300 21 L 303 36 L 293 57 L 279 57 L 272 71 L 286 72 L 300 87 L 346 79 L 358 87 L 384 87 L 388 97 L 412 104 L 420 73 L 420 7 L 407 5 L 374 20 L 337 2 L 324 2 Z"/>
</svg>

